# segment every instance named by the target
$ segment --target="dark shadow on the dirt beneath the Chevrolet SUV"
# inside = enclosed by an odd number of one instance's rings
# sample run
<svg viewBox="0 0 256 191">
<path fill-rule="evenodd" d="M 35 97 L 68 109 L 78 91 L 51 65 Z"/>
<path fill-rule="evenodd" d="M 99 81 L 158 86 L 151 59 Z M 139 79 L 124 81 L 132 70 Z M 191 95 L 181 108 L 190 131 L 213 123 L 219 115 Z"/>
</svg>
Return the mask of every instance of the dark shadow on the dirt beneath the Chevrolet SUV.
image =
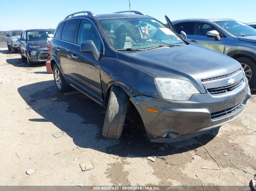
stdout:
<svg viewBox="0 0 256 191">
<path fill-rule="evenodd" d="M 60 131 L 66 132 L 79 147 L 96 149 L 97 145 L 98 151 L 121 157 L 166 156 L 201 147 L 194 141 L 151 143 L 145 130 L 139 128 L 143 125 L 131 123 L 130 120 L 126 120 L 120 139 L 106 139 L 101 135 L 105 109 L 77 91 L 59 93 L 53 80 L 22 86 L 18 88 L 18 92 L 32 110 L 44 117 L 29 119 L 30 121 L 52 122 Z M 58 100 L 52 101 L 53 98 Z M 56 129 L 51 134 L 55 132 Z M 67 135 L 58 138 L 60 144 L 65 141 Z M 52 135 L 49 136 L 55 139 Z M 213 138 L 211 133 L 205 133 L 194 140 L 205 145 Z"/>
</svg>

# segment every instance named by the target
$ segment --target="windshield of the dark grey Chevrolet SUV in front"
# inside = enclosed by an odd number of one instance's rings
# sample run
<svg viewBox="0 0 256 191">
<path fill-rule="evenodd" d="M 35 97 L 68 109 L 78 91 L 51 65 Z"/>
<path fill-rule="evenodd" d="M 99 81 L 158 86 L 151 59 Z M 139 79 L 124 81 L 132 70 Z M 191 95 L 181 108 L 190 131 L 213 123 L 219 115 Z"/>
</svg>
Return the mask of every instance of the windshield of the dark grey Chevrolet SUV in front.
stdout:
<svg viewBox="0 0 256 191">
<path fill-rule="evenodd" d="M 151 49 L 185 45 L 164 24 L 152 18 L 118 18 L 99 21 L 114 49 Z"/>
</svg>

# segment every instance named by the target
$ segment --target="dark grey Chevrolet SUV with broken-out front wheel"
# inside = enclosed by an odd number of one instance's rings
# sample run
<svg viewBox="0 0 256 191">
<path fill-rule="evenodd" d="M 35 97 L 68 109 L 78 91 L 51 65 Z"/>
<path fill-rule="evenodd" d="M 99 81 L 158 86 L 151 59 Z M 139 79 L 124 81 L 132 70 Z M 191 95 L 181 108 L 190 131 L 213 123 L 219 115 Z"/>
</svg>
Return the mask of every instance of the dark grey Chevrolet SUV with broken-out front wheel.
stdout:
<svg viewBox="0 0 256 191">
<path fill-rule="evenodd" d="M 125 12 L 70 14 L 50 45 L 56 88 L 71 86 L 106 108 L 104 137 L 121 136 L 128 108 L 137 109 L 151 142 L 194 137 L 242 113 L 251 94 L 239 62 Z"/>
</svg>

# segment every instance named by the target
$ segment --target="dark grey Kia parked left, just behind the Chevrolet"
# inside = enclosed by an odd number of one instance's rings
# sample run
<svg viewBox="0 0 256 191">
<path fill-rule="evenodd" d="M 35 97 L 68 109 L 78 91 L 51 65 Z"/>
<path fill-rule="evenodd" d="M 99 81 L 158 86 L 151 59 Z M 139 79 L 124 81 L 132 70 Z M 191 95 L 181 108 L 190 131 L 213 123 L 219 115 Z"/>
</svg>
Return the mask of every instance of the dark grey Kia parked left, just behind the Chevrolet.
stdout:
<svg viewBox="0 0 256 191">
<path fill-rule="evenodd" d="M 46 62 L 48 59 L 48 41 L 54 32 L 49 29 L 24 30 L 20 36 L 20 54 L 22 60 L 27 60 L 28 65 L 34 62 Z"/>
</svg>

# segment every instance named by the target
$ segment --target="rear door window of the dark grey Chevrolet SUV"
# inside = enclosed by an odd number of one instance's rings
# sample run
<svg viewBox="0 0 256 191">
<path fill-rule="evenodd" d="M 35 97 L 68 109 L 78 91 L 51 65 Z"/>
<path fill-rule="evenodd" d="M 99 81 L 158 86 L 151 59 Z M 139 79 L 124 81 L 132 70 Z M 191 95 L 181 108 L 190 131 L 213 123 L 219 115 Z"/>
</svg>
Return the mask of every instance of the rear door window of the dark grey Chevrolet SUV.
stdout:
<svg viewBox="0 0 256 191">
<path fill-rule="evenodd" d="M 73 43 L 77 24 L 78 24 L 78 19 L 72 19 L 70 21 L 65 22 L 62 30 L 61 40 L 65 40 Z"/>
</svg>

